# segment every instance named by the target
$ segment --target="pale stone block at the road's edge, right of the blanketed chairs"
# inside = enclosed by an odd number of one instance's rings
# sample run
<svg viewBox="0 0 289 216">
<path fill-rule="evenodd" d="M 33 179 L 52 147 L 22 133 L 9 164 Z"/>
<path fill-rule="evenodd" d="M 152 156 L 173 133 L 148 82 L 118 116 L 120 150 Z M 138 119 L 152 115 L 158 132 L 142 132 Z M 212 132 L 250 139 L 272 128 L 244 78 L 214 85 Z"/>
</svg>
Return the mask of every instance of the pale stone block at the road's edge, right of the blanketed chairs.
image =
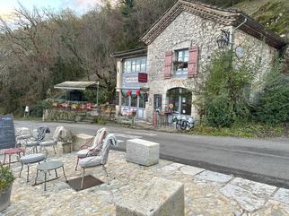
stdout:
<svg viewBox="0 0 289 216">
<path fill-rule="evenodd" d="M 151 166 L 159 162 L 160 144 L 142 139 L 127 140 L 127 161 Z"/>
</svg>

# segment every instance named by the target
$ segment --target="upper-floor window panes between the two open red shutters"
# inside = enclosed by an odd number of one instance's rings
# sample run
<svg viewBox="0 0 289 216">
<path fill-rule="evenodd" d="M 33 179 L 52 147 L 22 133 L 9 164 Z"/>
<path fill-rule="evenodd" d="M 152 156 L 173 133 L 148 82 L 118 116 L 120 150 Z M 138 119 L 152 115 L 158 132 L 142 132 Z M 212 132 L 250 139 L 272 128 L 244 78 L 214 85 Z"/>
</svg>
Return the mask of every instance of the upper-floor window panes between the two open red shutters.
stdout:
<svg viewBox="0 0 289 216">
<path fill-rule="evenodd" d="M 175 51 L 174 76 L 188 74 L 188 48 Z"/>
</svg>

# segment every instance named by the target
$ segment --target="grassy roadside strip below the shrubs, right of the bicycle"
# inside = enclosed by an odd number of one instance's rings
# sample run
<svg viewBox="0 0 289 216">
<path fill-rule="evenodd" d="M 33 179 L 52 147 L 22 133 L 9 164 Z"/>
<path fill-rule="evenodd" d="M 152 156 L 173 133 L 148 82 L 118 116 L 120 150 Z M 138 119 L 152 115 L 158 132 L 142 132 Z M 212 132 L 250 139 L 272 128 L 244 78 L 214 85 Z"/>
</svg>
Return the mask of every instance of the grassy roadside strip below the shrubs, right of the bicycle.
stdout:
<svg viewBox="0 0 289 216">
<path fill-rule="evenodd" d="M 273 138 L 283 136 L 285 134 L 285 128 L 283 125 L 261 124 L 232 125 L 230 128 L 197 125 L 194 129 L 189 131 L 189 134 L 234 136 L 242 138 Z"/>
</svg>

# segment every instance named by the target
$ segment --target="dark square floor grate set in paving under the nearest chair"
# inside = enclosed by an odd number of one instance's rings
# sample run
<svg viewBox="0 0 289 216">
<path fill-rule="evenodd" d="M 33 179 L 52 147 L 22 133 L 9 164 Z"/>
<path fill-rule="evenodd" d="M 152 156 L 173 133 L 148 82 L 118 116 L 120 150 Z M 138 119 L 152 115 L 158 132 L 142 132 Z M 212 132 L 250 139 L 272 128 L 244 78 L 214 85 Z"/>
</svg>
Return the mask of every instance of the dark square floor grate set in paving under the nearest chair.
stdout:
<svg viewBox="0 0 289 216">
<path fill-rule="evenodd" d="M 92 186 L 100 186 L 103 182 L 96 177 L 92 177 L 92 175 L 88 175 L 84 177 L 83 189 L 80 188 L 81 183 L 82 183 L 82 177 L 76 177 L 67 181 L 67 184 L 71 188 L 73 188 L 75 191 L 85 190 Z"/>
</svg>

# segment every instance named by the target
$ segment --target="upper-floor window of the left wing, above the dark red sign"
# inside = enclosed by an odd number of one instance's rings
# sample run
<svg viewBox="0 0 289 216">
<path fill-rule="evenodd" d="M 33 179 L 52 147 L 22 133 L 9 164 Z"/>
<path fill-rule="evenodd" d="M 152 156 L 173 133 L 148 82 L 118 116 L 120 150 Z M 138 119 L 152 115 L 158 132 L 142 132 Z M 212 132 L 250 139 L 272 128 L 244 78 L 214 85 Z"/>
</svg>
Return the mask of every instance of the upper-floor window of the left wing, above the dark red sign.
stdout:
<svg viewBox="0 0 289 216">
<path fill-rule="evenodd" d="M 124 62 L 124 73 L 146 72 L 146 56 L 128 58 Z"/>
</svg>

